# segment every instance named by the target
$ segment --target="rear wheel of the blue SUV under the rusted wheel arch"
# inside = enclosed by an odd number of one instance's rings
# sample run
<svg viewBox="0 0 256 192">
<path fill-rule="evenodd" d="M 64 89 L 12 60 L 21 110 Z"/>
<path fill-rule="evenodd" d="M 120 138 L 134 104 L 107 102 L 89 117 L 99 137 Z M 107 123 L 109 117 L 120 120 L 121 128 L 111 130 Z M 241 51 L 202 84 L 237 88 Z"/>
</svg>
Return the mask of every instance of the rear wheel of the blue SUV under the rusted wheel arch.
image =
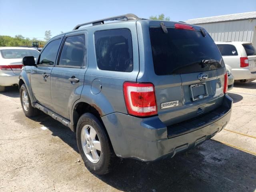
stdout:
<svg viewBox="0 0 256 192">
<path fill-rule="evenodd" d="M 86 168 L 98 175 L 110 172 L 115 154 L 102 123 L 91 113 L 83 114 L 77 124 L 78 150 Z"/>
</svg>

